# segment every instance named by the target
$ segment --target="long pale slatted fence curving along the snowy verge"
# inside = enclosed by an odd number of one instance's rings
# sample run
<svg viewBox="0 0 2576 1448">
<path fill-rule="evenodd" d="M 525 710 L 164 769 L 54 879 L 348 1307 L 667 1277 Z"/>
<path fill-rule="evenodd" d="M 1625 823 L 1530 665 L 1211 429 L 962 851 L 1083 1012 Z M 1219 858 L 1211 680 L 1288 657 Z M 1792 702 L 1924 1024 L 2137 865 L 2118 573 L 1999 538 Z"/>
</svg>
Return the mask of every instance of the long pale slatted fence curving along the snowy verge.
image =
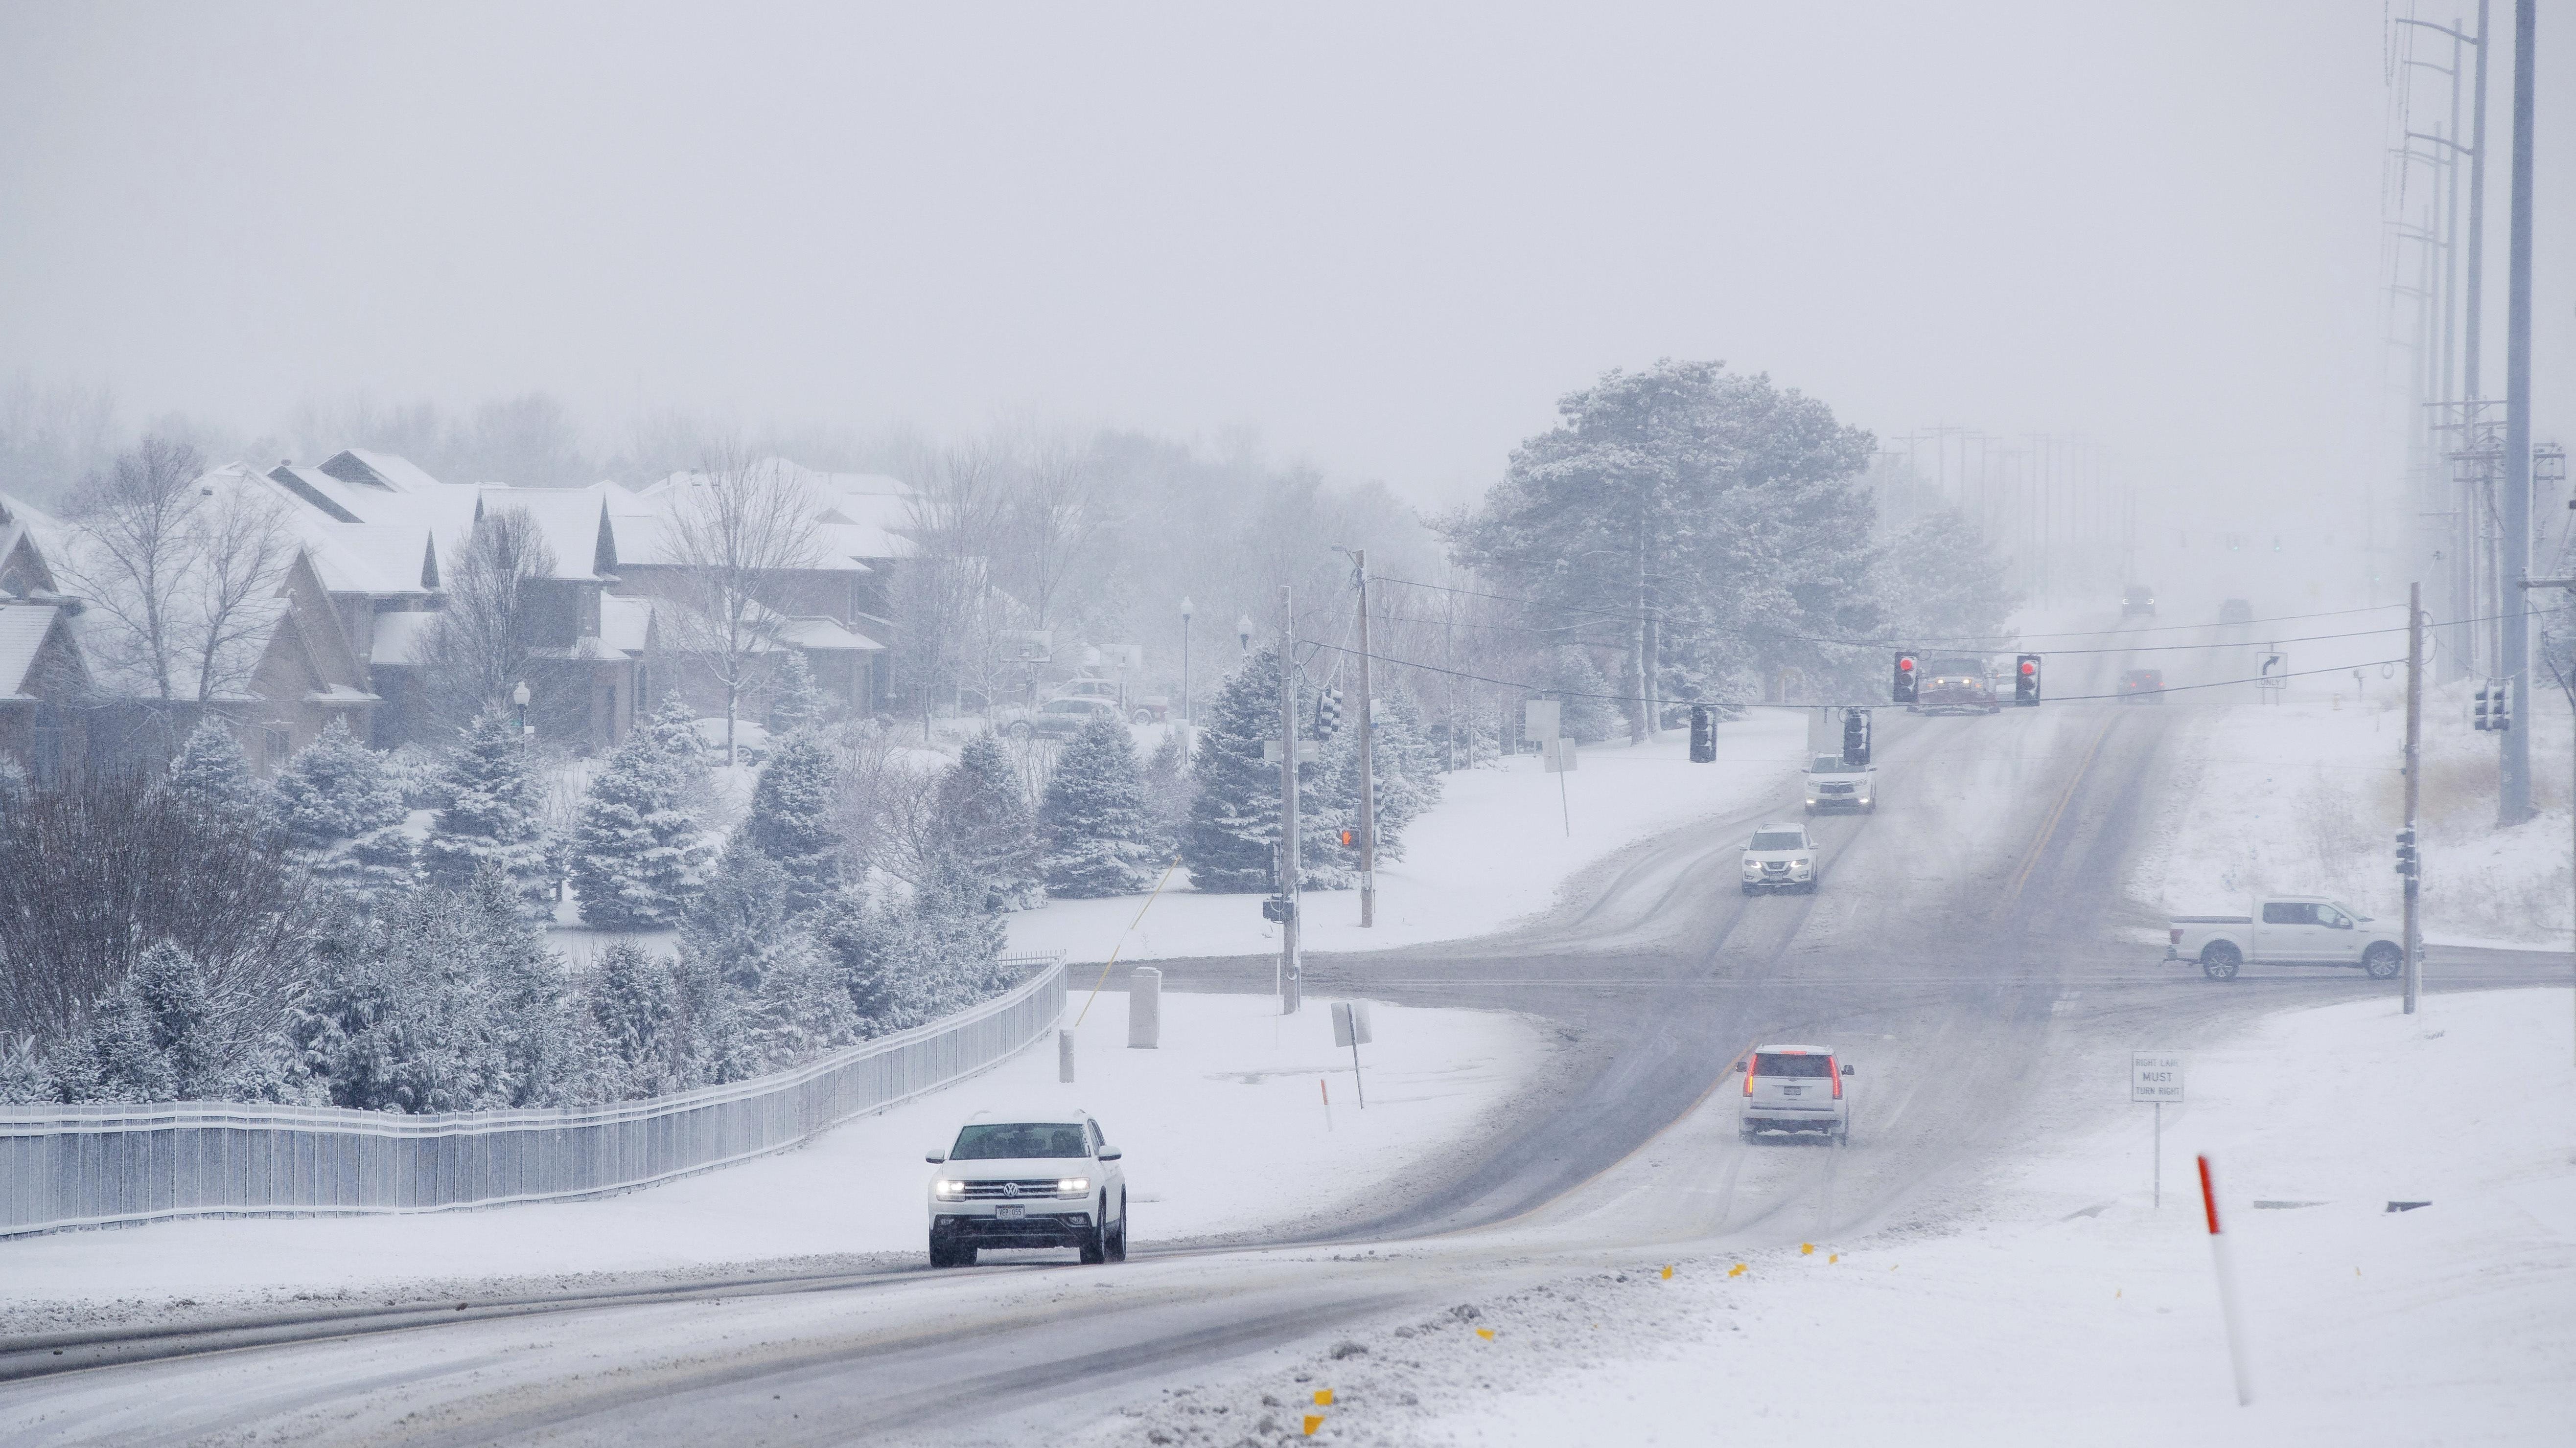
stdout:
<svg viewBox="0 0 2576 1448">
<path fill-rule="evenodd" d="M 572 1201 L 783 1152 L 971 1077 L 1064 1015 L 1064 961 L 971 1010 L 786 1072 L 559 1110 L 0 1105 L 0 1237 L 173 1216 L 374 1216 Z"/>
</svg>

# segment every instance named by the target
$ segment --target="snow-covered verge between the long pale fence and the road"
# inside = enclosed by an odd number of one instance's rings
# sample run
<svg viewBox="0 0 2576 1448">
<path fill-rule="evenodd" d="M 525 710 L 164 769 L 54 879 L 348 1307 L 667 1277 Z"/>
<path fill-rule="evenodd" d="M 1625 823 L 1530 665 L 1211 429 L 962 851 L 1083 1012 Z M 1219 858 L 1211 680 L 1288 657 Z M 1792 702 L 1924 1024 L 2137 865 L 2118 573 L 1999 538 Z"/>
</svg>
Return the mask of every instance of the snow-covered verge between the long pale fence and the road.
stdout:
<svg viewBox="0 0 2576 1448">
<path fill-rule="evenodd" d="M 1394 1183 L 1473 1144 L 1489 1113 L 1548 1056 L 1540 1033 L 1515 1015 L 1381 1002 L 1376 1043 L 1360 1051 L 1360 1110 L 1350 1051 L 1334 1051 L 1321 1000 L 1278 1018 L 1262 997 L 1164 995 L 1154 1051 L 1126 1049 L 1126 1005 L 1121 992 L 1090 1005 L 1074 1085 L 1056 1082 L 1046 1041 L 804 1149 L 629 1196 L 422 1216 L 167 1221 L 0 1242 L 0 1335 L 167 1306 L 206 1317 L 291 1299 L 415 1301 L 492 1278 L 541 1288 L 600 1273 L 914 1255 L 930 1180 L 922 1152 L 945 1147 L 971 1110 L 1048 1103 L 1092 1110 L 1126 1149 L 1139 1247 L 1260 1239 L 1383 1211 Z M 1082 1010 L 1077 992 L 1066 1023 Z M 1170 1170 L 1182 1159 L 1188 1175 Z"/>
</svg>

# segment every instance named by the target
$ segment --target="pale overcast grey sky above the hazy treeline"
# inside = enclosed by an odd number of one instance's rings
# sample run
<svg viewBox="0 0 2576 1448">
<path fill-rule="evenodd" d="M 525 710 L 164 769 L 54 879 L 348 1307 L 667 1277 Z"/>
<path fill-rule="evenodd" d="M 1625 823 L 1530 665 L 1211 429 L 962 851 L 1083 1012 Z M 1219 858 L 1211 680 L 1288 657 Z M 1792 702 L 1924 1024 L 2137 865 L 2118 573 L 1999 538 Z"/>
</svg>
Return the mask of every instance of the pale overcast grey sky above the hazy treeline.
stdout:
<svg viewBox="0 0 2576 1448">
<path fill-rule="evenodd" d="M 2380 75 L 2352 0 L 10 5 L 0 371 L 1255 425 L 1448 500 L 1716 356 L 2331 492 L 2385 435 Z M 2545 273 L 2545 368 L 2566 317 Z"/>
</svg>

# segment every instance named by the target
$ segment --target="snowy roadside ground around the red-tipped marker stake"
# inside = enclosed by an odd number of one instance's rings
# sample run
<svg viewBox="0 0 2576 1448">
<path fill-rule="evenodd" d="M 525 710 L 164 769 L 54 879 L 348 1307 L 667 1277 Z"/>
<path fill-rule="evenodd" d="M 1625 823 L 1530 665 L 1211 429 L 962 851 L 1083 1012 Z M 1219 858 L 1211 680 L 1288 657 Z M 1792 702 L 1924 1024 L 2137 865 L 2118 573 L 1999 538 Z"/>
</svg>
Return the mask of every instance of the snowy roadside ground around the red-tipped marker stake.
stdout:
<svg viewBox="0 0 2576 1448">
<path fill-rule="evenodd" d="M 2414 1018 L 2380 1000 L 2300 1010 L 2187 1051 L 2161 1208 L 2125 1049 L 2061 1074 L 2087 1100 L 2043 1113 L 2048 1144 L 1984 1183 L 1965 1221 L 1633 1255 L 1175 1386 L 1082 1440 L 1231 1443 L 1319 1415 L 1319 1443 L 1406 1445 L 2566 1443 L 2568 992 L 2442 995 Z M 2251 1407 L 2195 1152 L 2233 1242 Z"/>
</svg>

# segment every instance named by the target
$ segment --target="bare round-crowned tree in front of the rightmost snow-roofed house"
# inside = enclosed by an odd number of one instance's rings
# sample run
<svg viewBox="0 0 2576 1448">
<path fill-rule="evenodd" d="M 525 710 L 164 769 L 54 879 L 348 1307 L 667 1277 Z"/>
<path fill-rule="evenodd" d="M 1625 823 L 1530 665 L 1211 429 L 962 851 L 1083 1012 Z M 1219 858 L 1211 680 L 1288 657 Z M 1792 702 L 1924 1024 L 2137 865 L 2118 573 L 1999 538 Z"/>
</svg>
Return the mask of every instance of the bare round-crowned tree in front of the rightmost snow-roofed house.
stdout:
<svg viewBox="0 0 2576 1448">
<path fill-rule="evenodd" d="M 675 484 L 659 582 L 672 644 L 724 688 L 724 763 L 734 763 L 742 696 L 781 647 L 786 616 L 762 593 L 822 564 L 814 500 L 778 459 L 724 453 Z"/>
</svg>

